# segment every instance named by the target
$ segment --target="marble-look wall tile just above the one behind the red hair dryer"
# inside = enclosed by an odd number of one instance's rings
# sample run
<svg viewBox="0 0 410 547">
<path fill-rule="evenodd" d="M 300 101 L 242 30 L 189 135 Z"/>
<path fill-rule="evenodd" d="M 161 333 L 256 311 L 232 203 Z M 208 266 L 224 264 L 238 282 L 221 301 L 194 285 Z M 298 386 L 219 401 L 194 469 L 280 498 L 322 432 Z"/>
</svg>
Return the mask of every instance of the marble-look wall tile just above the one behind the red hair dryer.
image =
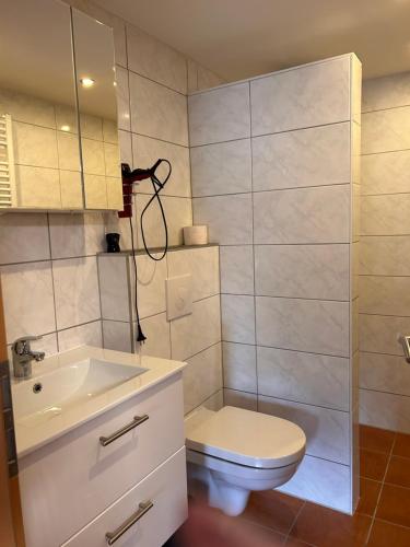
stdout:
<svg viewBox="0 0 410 547">
<path fill-rule="evenodd" d="M 130 73 L 133 132 L 188 146 L 187 97 Z"/>
</svg>

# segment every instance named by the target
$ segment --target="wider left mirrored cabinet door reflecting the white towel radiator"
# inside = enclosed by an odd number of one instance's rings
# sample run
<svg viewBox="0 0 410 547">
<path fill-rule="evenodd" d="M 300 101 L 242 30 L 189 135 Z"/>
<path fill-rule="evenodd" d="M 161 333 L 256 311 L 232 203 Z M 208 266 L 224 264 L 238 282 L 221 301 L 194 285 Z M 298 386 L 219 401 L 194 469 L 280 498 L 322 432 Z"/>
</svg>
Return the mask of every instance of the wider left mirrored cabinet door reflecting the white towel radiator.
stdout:
<svg viewBox="0 0 410 547">
<path fill-rule="evenodd" d="M 70 8 L 8 1 L 0 67 L 0 211 L 82 209 Z"/>
</svg>

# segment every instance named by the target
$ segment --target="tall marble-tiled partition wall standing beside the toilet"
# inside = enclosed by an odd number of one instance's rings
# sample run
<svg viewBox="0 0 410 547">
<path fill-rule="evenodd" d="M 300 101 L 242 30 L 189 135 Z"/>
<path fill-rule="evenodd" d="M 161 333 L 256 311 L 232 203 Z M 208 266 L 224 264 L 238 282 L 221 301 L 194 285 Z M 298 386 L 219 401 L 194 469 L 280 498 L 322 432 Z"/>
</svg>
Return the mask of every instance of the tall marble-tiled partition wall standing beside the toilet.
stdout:
<svg viewBox="0 0 410 547">
<path fill-rule="evenodd" d="M 224 401 L 301 424 L 283 490 L 347 512 L 360 89 L 343 56 L 188 100 L 194 221 L 221 245 Z"/>
</svg>

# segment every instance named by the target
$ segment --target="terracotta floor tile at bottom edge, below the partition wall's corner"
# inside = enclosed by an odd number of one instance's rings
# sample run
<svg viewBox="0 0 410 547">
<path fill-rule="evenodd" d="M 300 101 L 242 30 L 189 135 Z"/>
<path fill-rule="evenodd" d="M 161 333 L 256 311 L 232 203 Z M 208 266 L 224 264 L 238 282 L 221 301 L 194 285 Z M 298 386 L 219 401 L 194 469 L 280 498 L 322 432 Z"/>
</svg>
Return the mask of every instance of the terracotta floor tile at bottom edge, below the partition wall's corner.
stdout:
<svg viewBox="0 0 410 547">
<path fill-rule="evenodd" d="M 371 522 L 366 515 L 349 516 L 307 502 L 290 535 L 317 547 L 362 547 Z"/>
</svg>

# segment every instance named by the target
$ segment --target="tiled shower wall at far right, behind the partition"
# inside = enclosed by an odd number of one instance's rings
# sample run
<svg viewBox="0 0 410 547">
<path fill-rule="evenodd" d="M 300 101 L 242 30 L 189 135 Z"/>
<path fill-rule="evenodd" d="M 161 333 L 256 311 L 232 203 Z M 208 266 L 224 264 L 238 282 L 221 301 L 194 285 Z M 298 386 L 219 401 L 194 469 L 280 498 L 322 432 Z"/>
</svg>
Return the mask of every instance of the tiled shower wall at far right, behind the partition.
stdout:
<svg viewBox="0 0 410 547">
<path fill-rule="evenodd" d="M 410 432 L 410 72 L 363 85 L 360 418 Z"/>
</svg>

